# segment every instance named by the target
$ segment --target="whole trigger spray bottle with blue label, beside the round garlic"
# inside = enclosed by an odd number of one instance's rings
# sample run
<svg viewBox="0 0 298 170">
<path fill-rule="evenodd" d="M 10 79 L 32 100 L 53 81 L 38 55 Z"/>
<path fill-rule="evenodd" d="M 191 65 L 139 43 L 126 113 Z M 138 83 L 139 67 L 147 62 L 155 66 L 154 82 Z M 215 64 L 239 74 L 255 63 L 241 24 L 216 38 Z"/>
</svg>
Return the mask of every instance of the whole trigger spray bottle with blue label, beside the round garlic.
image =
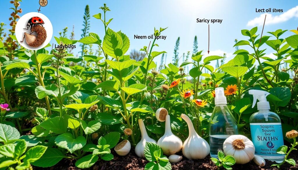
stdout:
<svg viewBox="0 0 298 170">
<path fill-rule="evenodd" d="M 249 94 L 254 97 L 252 107 L 256 104 L 257 99 L 259 100 L 257 102 L 259 111 L 252 114 L 249 119 L 255 155 L 281 163 L 285 155 L 276 153 L 276 150 L 283 145 L 283 132 L 280 117 L 270 111 L 270 105 L 266 99 L 270 93 L 261 90 L 249 90 Z"/>
</svg>

